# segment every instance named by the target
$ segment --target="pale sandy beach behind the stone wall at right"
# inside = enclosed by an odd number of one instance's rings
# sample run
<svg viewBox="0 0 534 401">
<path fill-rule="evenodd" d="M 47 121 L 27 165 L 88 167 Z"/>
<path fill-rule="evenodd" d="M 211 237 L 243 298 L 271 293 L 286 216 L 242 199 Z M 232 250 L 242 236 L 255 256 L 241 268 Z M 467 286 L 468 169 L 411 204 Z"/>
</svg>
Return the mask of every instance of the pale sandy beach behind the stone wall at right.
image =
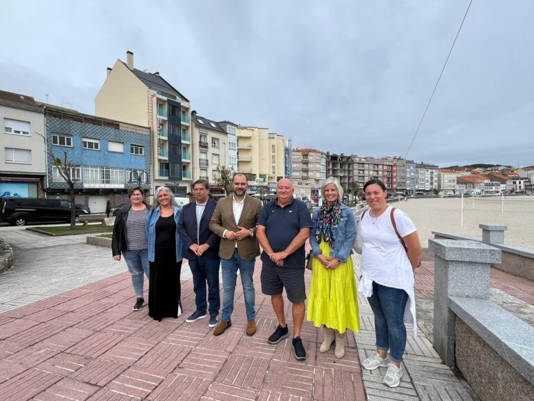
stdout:
<svg viewBox="0 0 534 401">
<path fill-rule="evenodd" d="M 478 224 L 493 223 L 508 226 L 505 244 L 534 249 L 534 196 L 509 196 L 504 207 L 500 198 L 464 198 L 463 226 L 460 198 L 409 198 L 392 205 L 410 215 L 423 247 L 434 237 L 432 231 L 481 239 Z"/>
</svg>

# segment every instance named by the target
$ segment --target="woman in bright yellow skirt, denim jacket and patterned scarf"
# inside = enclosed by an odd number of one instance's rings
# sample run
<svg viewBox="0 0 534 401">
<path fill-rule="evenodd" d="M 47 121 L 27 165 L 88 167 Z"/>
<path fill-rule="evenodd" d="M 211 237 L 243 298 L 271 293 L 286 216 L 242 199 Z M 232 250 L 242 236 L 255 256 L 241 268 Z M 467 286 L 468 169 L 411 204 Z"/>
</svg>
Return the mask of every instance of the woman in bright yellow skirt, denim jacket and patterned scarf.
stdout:
<svg viewBox="0 0 534 401">
<path fill-rule="evenodd" d="M 359 331 L 358 301 L 353 259 L 350 253 L 356 239 L 353 211 L 341 203 L 343 188 L 329 177 L 321 187 L 323 205 L 314 210 L 312 232 L 313 271 L 309 290 L 307 320 L 315 327 L 324 324 L 321 352 L 336 344 L 336 358 L 345 355 L 345 331 Z"/>
</svg>

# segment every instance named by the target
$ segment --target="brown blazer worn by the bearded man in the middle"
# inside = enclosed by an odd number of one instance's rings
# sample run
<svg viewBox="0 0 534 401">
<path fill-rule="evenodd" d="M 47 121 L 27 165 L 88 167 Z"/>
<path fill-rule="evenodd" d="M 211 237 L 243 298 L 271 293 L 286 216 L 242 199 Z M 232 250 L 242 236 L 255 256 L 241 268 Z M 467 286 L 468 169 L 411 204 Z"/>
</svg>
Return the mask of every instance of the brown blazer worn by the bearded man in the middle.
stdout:
<svg viewBox="0 0 534 401">
<path fill-rule="evenodd" d="M 259 244 L 256 239 L 256 223 L 261 212 L 261 201 L 250 195 L 245 195 L 245 203 L 241 217 L 236 224 L 234 217 L 234 194 L 218 201 L 209 222 L 209 229 L 220 239 L 219 256 L 223 259 L 232 258 L 236 249 L 236 241 L 223 238 L 225 230 L 236 231 L 237 226 L 252 229 L 254 237 L 247 237 L 237 241 L 237 251 L 243 259 L 254 259 L 259 255 Z"/>
</svg>

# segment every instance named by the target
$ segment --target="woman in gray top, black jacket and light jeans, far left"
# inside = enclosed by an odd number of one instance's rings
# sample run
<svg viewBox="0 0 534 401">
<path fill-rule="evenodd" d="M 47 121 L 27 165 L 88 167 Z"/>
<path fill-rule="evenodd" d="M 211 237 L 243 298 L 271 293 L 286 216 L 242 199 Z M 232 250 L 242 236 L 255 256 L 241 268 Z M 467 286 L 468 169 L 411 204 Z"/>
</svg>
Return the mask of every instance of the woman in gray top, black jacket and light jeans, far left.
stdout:
<svg viewBox="0 0 534 401">
<path fill-rule="evenodd" d="M 128 196 L 130 203 L 122 206 L 115 217 L 111 250 L 115 260 L 120 260 L 121 253 L 124 256 L 131 274 L 133 290 L 135 290 L 137 297 L 133 310 L 140 310 L 145 304 L 145 299 L 143 298 L 145 278 L 143 273 L 147 275 L 147 278 L 149 277 L 145 221 L 147 220 L 150 206 L 143 201 L 143 189 L 141 187 L 128 189 Z"/>
</svg>

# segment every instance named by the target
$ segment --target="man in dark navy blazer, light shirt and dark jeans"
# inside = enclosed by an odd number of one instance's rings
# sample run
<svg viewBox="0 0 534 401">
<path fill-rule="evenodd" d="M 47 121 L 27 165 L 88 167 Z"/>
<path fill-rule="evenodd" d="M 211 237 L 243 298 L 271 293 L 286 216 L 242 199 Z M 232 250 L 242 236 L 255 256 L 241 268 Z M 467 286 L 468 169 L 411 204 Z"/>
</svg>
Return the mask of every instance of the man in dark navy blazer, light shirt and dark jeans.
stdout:
<svg viewBox="0 0 534 401">
<path fill-rule="evenodd" d="M 205 180 L 193 183 L 195 202 L 181 210 L 177 230 L 184 242 L 182 255 L 189 261 L 193 273 L 195 312 L 186 320 L 193 323 L 207 316 L 206 283 L 208 284 L 209 327 L 216 327 L 220 308 L 219 294 L 219 237 L 209 230 L 209 221 L 215 201 L 209 199 L 209 186 Z"/>
</svg>

